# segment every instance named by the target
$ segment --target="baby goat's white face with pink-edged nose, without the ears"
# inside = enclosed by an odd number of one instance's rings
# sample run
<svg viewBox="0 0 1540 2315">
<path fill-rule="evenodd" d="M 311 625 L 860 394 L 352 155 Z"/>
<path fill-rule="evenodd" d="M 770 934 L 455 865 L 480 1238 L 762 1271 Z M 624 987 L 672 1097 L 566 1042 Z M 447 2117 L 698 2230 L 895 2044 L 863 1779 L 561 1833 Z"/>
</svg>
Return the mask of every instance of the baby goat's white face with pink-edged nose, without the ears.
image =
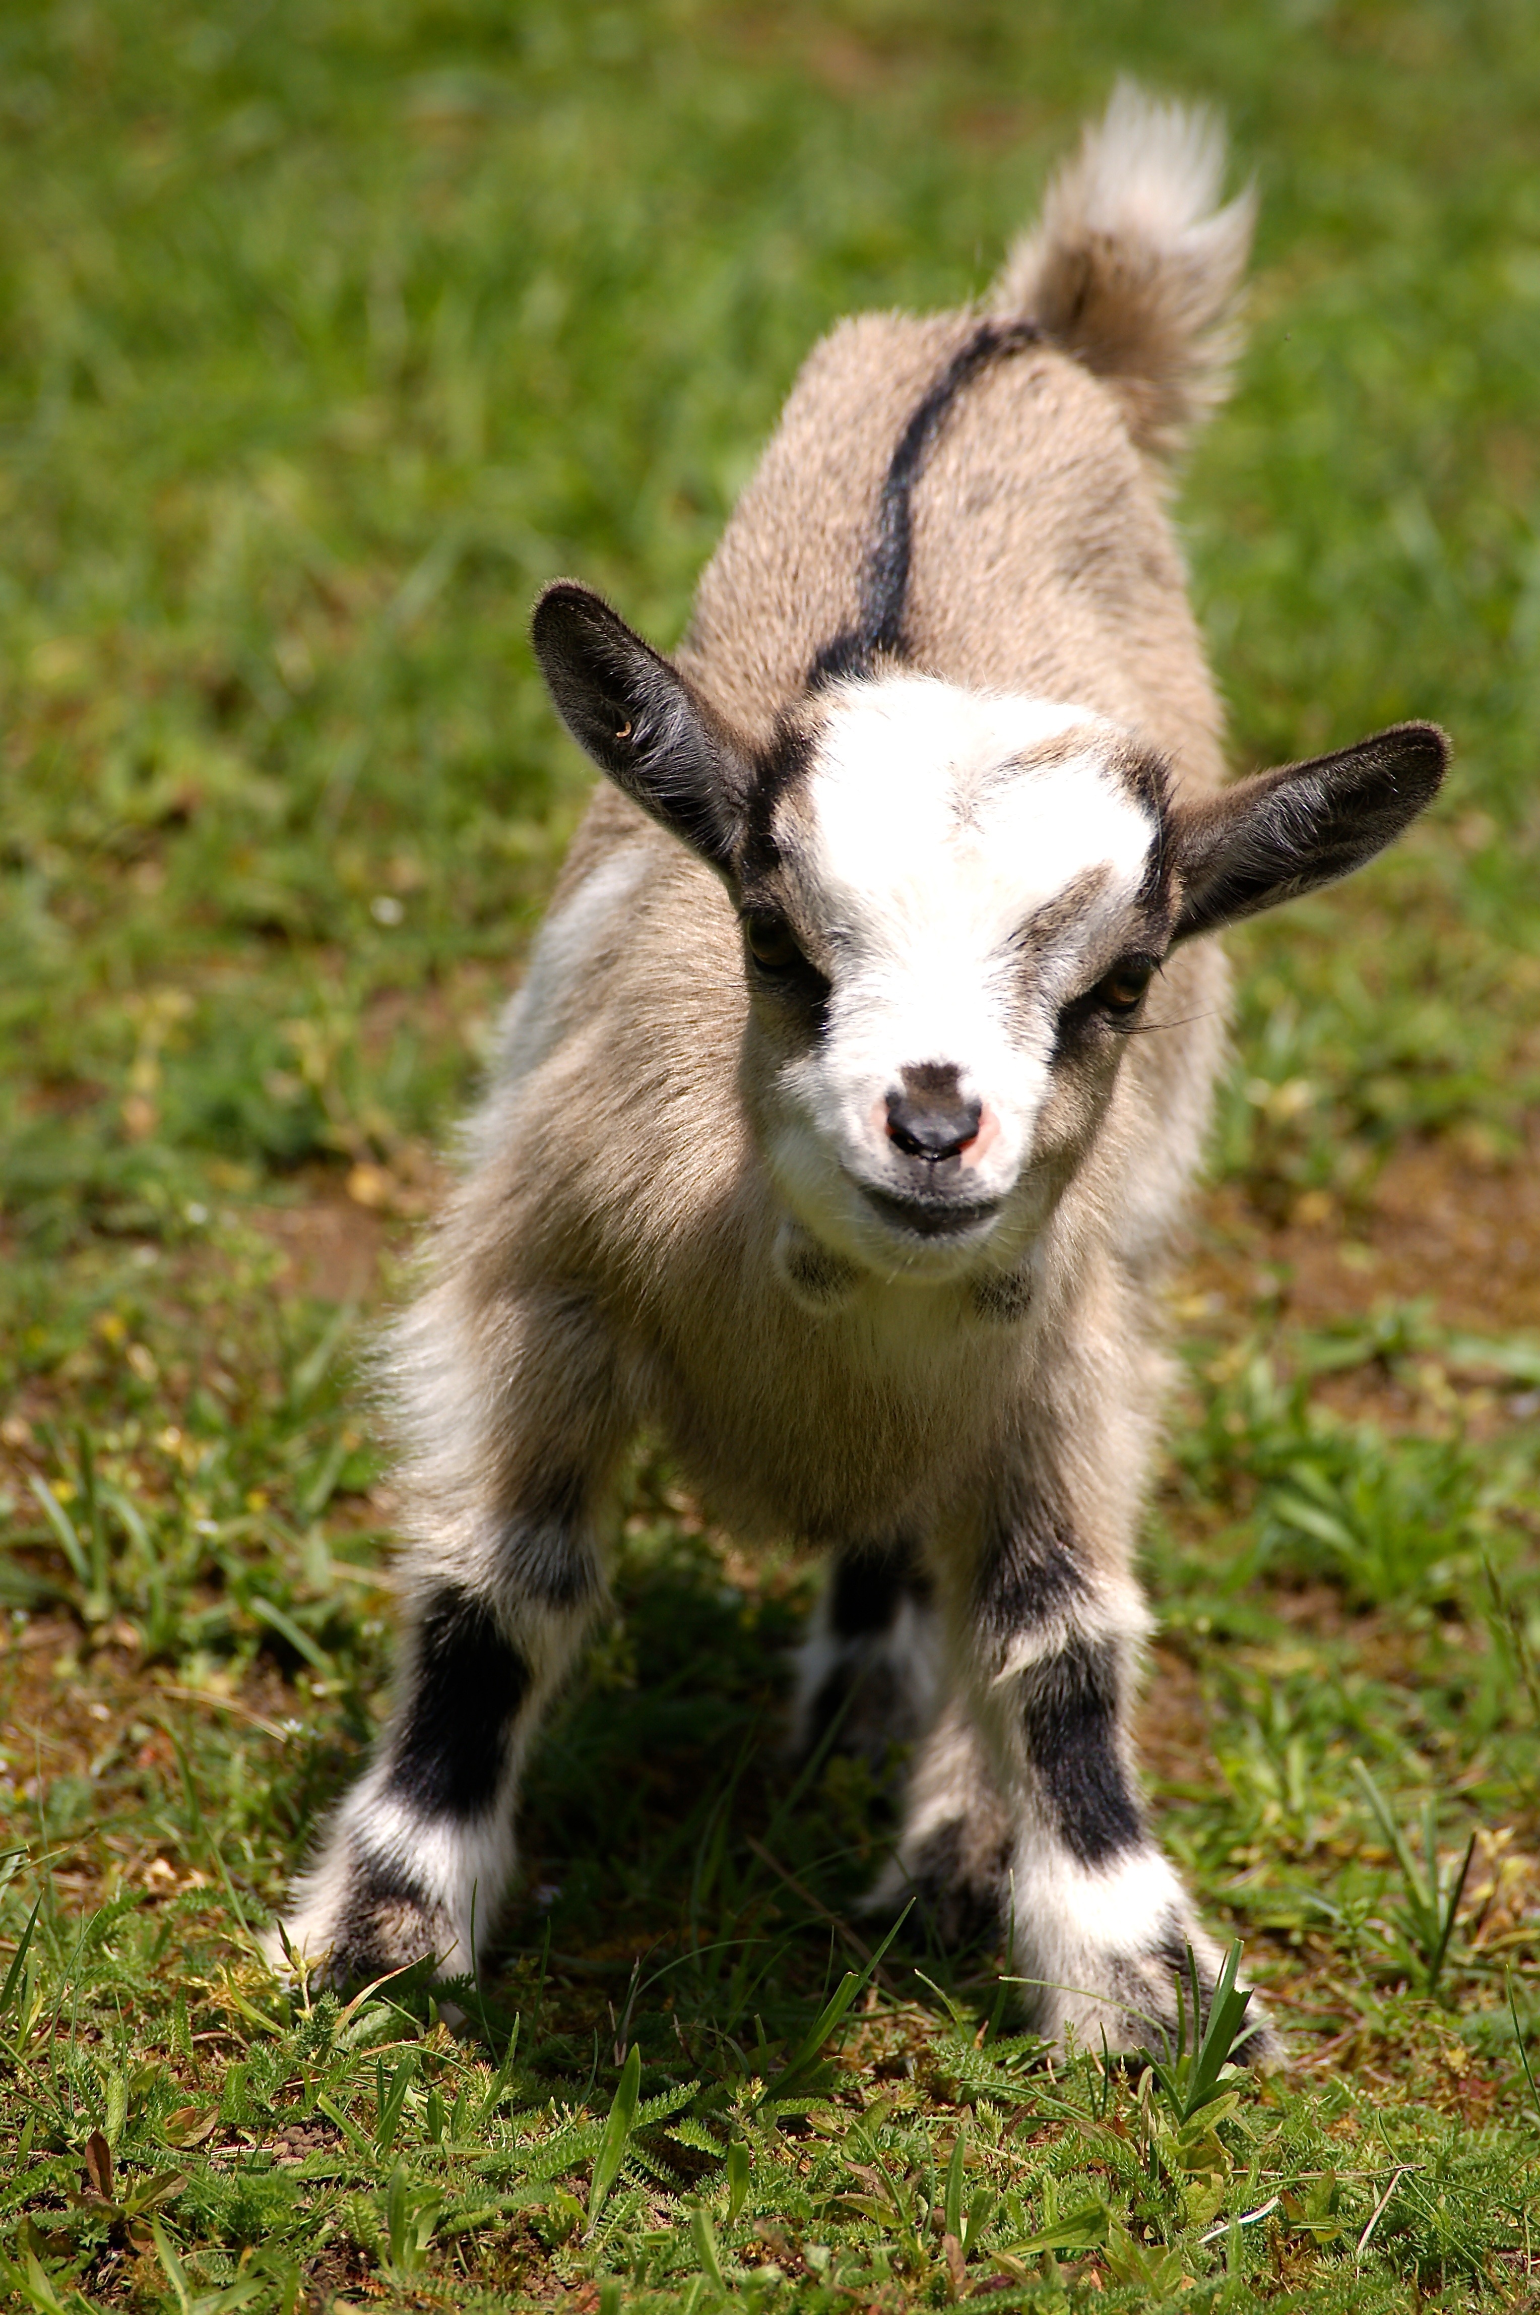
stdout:
<svg viewBox="0 0 1540 2315">
<path fill-rule="evenodd" d="M 770 820 L 775 866 L 742 891 L 749 1100 L 814 1236 L 936 1278 L 1041 1225 L 1066 1007 L 1112 984 L 1105 1035 L 1068 1060 L 1084 1111 L 1165 949 L 1140 905 L 1156 794 L 1089 708 L 927 676 L 825 694 Z"/>
</svg>

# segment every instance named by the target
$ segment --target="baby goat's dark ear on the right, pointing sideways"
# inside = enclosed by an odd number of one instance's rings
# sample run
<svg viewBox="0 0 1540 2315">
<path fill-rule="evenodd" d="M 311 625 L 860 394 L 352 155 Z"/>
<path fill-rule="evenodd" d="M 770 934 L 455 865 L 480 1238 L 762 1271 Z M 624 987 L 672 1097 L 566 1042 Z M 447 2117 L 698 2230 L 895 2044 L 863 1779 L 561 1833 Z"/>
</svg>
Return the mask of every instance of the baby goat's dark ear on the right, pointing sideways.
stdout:
<svg viewBox="0 0 1540 2315">
<path fill-rule="evenodd" d="M 1362 868 L 1434 801 L 1448 755 L 1438 725 L 1394 725 L 1337 755 L 1258 771 L 1177 806 L 1182 912 L 1172 938 L 1212 933 Z"/>
</svg>

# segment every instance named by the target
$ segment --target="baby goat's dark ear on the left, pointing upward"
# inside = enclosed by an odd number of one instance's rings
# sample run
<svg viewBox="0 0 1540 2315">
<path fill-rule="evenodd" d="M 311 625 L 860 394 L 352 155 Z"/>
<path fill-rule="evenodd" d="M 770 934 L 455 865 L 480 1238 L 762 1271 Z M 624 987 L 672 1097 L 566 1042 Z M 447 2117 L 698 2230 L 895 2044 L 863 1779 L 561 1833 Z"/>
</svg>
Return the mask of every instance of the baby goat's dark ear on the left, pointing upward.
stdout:
<svg viewBox="0 0 1540 2315">
<path fill-rule="evenodd" d="M 573 579 L 546 588 L 532 639 L 578 748 L 708 866 L 726 870 L 752 769 L 724 720 L 678 667 Z"/>
</svg>

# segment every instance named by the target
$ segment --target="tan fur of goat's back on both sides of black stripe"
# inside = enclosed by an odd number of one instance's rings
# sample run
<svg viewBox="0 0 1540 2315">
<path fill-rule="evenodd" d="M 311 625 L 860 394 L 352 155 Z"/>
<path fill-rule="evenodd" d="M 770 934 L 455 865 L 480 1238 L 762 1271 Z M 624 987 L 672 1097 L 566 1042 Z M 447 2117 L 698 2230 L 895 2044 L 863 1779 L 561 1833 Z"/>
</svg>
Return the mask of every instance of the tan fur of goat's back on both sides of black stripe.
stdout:
<svg viewBox="0 0 1540 2315">
<path fill-rule="evenodd" d="M 860 618 L 883 479 L 976 310 L 860 315 L 809 357 L 696 595 L 680 662 L 763 738 Z M 904 634 L 955 683 L 1078 701 L 1184 785 L 1221 776 L 1219 706 L 1156 475 L 1115 394 L 1052 345 L 1001 352 L 911 491 Z"/>
</svg>

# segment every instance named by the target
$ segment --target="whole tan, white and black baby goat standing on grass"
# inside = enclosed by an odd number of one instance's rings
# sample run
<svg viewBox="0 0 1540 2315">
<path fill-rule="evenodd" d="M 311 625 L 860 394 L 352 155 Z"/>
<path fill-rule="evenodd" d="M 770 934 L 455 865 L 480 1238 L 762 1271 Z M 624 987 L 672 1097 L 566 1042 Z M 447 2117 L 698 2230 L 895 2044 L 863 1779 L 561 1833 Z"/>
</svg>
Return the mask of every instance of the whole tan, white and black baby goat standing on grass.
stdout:
<svg viewBox="0 0 1540 2315">
<path fill-rule="evenodd" d="M 1189 1942 L 1212 1984 L 1131 1743 L 1200 935 L 1357 868 L 1445 762 L 1401 725 L 1221 787 L 1163 514 L 1251 234 L 1221 162 L 1121 88 L 980 308 L 835 329 L 673 660 L 541 595 L 608 785 L 391 1336 L 400 1688 L 287 1921 L 338 1982 L 495 1926 L 647 1424 L 738 1535 L 835 1553 L 805 1729 L 916 1736 L 879 1896 L 1008 1921 L 1082 2044 L 1172 2019 Z"/>
</svg>

